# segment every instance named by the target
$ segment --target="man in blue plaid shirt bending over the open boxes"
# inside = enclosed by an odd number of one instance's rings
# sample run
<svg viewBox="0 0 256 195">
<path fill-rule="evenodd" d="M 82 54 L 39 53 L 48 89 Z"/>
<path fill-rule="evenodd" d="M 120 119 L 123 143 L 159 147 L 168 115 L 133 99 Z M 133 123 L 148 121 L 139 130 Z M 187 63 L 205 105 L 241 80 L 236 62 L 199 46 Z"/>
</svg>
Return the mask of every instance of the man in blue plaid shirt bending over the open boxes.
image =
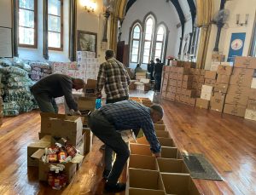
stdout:
<svg viewBox="0 0 256 195">
<path fill-rule="evenodd" d="M 160 158 L 160 143 L 154 132 L 154 123 L 160 121 L 163 115 L 161 106 L 153 105 L 149 108 L 133 100 L 107 104 L 90 114 L 88 124 L 91 131 L 117 154 L 105 185 L 106 191 L 120 192 L 125 190 L 125 183 L 118 183 L 118 179 L 130 152 L 119 131 L 122 129 L 143 129 L 151 151 L 156 158 Z"/>
</svg>

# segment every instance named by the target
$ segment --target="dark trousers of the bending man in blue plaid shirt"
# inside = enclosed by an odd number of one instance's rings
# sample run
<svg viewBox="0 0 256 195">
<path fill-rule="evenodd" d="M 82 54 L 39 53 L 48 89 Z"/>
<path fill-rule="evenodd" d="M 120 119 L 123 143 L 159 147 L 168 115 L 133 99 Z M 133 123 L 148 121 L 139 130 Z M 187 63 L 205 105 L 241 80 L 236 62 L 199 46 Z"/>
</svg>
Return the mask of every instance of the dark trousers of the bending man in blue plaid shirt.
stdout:
<svg viewBox="0 0 256 195">
<path fill-rule="evenodd" d="M 117 183 L 119 176 L 125 167 L 125 163 L 130 156 L 129 148 L 113 124 L 108 122 L 108 120 L 102 115 L 101 111 L 96 110 L 92 112 L 90 114 L 88 124 L 94 135 L 96 135 L 106 146 L 113 149 L 116 153 L 113 168 L 108 176 L 108 183 L 115 184 Z"/>
</svg>

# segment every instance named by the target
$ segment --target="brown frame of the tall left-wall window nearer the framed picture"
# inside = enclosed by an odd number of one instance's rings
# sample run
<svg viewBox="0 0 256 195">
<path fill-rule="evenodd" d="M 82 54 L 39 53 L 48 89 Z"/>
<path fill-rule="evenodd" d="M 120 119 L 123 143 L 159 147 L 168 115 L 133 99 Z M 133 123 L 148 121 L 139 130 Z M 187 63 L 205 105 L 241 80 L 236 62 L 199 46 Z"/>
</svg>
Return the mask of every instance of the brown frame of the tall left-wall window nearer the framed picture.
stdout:
<svg viewBox="0 0 256 195">
<path fill-rule="evenodd" d="M 61 34 L 61 47 L 60 48 L 54 48 L 54 47 L 48 47 L 49 50 L 53 50 L 53 51 L 63 51 L 63 0 L 55 0 L 55 1 L 60 1 L 61 2 L 61 17 L 59 15 L 55 15 L 55 14 L 49 14 L 49 11 L 47 11 L 47 20 L 48 20 L 48 25 L 49 25 L 49 15 L 53 15 L 56 17 L 60 17 L 61 18 L 61 32 L 55 32 L 55 33 L 60 33 Z M 47 0 L 47 8 L 49 9 L 49 2 Z M 49 41 L 49 32 L 53 32 L 53 31 L 49 31 L 49 27 L 47 28 L 47 34 L 48 34 L 48 41 Z"/>
</svg>

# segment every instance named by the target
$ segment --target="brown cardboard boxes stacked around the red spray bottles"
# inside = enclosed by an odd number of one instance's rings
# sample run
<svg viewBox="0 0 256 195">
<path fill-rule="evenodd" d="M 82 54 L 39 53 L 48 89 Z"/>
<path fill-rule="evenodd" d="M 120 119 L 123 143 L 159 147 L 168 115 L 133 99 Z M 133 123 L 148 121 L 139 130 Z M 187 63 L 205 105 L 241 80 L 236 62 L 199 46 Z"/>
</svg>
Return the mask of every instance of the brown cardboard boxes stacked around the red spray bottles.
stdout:
<svg viewBox="0 0 256 195">
<path fill-rule="evenodd" d="M 56 164 L 44 163 L 42 161 L 42 156 L 45 152 L 44 148 L 55 146 L 55 142 L 61 142 L 61 138 L 65 138 L 70 144 L 75 146 L 81 155 L 88 151 L 82 118 L 79 116 L 41 112 L 39 141 L 35 141 L 27 146 L 27 166 L 38 167 L 39 181 L 47 181 L 49 164 Z M 64 164 L 68 183 L 72 180 L 82 161 L 83 156 L 79 156 L 79 158 L 74 159 L 71 163 Z"/>
</svg>

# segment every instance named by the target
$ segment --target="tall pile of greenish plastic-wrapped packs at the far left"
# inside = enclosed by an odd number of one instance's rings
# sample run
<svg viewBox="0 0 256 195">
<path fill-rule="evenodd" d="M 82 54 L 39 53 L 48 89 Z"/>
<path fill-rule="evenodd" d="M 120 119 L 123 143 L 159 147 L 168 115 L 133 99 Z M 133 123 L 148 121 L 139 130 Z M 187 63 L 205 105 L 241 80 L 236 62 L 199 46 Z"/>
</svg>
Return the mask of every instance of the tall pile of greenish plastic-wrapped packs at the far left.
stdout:
<svg viewBox="0 0 256 195">
<path fill-rule="evenodd" d="M 34 82 L 28 77 L 31 67 L 22 60 L 0 59 L 1 86 L 3 86 L 3 116 L 17 116 L 36 108 L 30 92 Z"/>
</svg>

